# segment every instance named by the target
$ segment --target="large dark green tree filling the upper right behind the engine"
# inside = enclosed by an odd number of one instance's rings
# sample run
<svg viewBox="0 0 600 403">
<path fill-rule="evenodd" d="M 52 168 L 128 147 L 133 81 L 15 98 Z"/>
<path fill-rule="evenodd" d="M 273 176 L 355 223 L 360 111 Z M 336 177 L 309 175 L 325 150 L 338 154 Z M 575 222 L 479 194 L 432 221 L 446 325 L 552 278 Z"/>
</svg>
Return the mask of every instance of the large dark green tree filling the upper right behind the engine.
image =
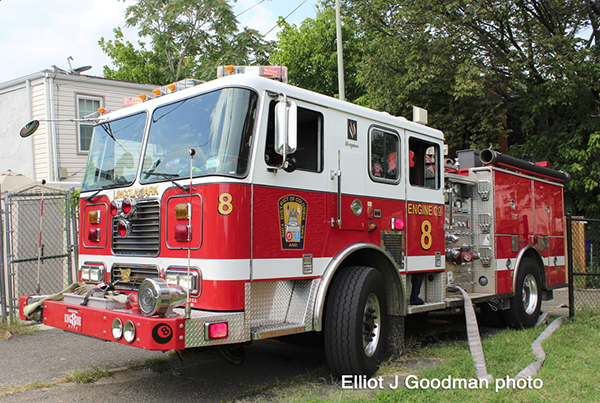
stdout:
<svg viewBox="0 0 600 403">
<path fill-rule="evenodd" d="M 430 111 L 453 149 L 492 145 L 573 176 L 600 213 L 599 8 L 589 0 L 347 0 L 371 107 Z M 585 33 L 585 36 L 584 36 Z"/>
</svg>

